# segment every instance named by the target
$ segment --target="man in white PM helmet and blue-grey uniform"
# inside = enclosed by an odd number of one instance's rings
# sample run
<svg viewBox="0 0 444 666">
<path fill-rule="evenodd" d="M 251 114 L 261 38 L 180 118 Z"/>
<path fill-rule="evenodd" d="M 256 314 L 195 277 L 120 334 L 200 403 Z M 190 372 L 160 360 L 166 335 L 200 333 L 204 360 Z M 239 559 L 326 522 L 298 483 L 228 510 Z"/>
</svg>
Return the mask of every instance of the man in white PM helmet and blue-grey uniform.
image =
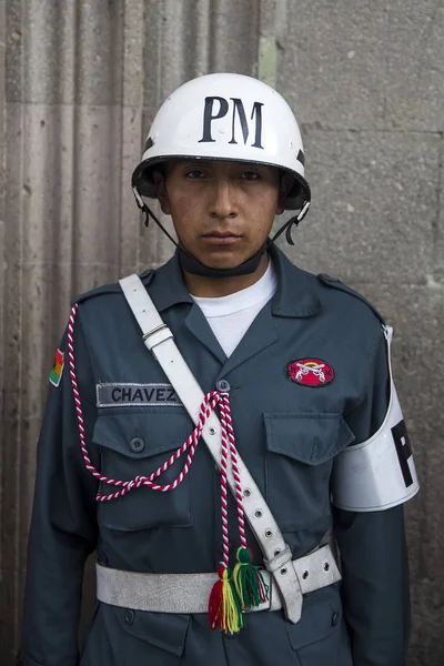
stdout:
<svg viewBox="0 0 444 666">
<path fill-rule="evenodd" d="M 132 186 L 147 221 L 149 198 L 172 216 L 176 250 L 72 306 L 39 442 L 21 663 L 403 666 L 402 505 L 418 486 L 392 330 L 273 243 L 292 242 L 311 199 L 292 111 L 249 77 L 190 81 Z"/>
</svg>

